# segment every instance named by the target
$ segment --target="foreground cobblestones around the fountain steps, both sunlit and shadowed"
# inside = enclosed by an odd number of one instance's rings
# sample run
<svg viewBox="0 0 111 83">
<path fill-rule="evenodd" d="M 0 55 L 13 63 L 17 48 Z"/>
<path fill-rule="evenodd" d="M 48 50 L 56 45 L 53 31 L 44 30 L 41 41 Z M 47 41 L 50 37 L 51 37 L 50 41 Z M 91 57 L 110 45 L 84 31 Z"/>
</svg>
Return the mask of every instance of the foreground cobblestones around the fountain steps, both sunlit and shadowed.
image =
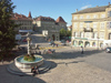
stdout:
<svg viewBox="0 0 111 83">
<path fill-rule="evenodd" d="M 77 59 L 49 60 L 53 68 L 40 75 L 18 76 L 7 72 L 9 62 L 0 64 L 0 83 L 110 83 L 111 73 Z M 54 66 L 56 65 L 56 66 Z"/>
</svg>

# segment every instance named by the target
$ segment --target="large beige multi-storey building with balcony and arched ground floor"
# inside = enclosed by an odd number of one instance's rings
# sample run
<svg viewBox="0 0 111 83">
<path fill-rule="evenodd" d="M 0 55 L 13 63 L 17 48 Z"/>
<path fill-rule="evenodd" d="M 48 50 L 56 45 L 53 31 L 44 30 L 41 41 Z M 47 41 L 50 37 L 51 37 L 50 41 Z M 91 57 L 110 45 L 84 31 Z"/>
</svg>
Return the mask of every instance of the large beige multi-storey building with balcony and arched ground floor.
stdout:
<svg viewBox="0 0 111 83">
<path fill-rule="evenodd" d="M 111 46 L 111 4 L 72 13 L 72 46 Z"/>
</svg>

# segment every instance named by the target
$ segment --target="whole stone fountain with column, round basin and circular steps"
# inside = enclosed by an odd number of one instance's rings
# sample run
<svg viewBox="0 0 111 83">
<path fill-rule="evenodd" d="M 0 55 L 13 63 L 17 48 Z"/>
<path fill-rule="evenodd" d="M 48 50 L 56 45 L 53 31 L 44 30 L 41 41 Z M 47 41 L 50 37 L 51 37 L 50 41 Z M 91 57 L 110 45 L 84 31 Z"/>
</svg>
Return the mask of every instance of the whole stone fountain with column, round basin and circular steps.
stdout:
<svg viewBox="0 0 111 83">
<path fill-rule="evenodd" d="M 51 62 L 46 61 L 41 55 L 31 54 L 31 37 L 28 33 L 28 54 L 20 55 L 14 59 L 14 62 L 9 64 L 7 70 L 17 75 L 31 75 L 31 68 L 39 66 L 39 70 L 42 72 L 47 72 L 51 68 Z M 28 60 L 29 59 L 29 60 Z"/>
</svg>

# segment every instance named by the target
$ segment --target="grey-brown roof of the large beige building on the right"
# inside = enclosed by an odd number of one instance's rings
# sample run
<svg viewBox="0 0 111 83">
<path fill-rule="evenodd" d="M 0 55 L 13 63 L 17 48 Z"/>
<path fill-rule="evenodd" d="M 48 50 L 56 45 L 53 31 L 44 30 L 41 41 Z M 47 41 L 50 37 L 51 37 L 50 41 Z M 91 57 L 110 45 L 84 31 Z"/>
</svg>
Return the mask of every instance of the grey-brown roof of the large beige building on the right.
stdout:
<svg viewBox="0 0 111 83">
<path fill-rule="evenodd" d="M 78 14 L 78 13 L 90 13 L 90 12 L 101 12 L 101 11 L 105 11 L 105 8 L 108 8 L 109 6 L 103 6 L 103 7 L 95 7 L 95 8 L 88 8 L 78 12 L 74 12 L 72 14 Z"/>
</svg>

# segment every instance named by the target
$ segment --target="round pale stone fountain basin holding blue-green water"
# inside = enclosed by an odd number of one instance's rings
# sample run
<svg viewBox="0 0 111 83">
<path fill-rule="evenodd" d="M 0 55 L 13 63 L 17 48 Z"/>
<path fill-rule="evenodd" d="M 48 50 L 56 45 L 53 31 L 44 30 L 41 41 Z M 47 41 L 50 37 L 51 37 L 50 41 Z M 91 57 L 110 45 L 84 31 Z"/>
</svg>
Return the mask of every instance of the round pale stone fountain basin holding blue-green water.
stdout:
<svg viewBox="0 0 111 83">
<path fill-rule="evenodd" d="M 40 55 L 34 55 L 36 61 L 33 62 L 28 62 L 23 60 L 23 55 L 20 55 L 14 59 L 14 64 L 19 69 L 31 69 L 31 66 L 40 66 L 43 64 L 43 58 Z"/>
</svg>

